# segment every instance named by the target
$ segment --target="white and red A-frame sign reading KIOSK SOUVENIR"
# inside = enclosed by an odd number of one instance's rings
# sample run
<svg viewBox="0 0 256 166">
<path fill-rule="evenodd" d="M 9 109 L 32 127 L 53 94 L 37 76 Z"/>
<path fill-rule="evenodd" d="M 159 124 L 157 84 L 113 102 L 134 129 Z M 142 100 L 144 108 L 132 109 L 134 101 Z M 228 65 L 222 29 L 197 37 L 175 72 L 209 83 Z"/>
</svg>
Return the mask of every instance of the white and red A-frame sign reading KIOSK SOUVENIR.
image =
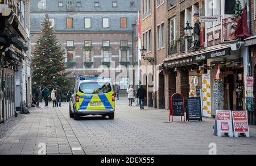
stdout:
<svg viewBox="0 0 256 166">
<path fill-rule="evenodd" d="M 243 133 L 250 137 L 247 111 L 232 111 L 234 136 Z"/>
</svg>

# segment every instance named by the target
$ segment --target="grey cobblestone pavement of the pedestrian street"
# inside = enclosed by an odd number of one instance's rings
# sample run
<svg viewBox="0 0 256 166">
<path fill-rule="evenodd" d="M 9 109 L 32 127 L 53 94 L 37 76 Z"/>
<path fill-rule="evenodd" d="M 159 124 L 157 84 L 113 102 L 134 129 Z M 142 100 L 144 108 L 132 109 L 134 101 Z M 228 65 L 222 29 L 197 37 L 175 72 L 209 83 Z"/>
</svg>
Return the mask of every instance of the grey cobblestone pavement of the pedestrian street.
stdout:
<svg viewBox="0 0 256 166">
<path fill-rule="evenodd" d="M 0 154 L 208 154 L 217 144 L 218 154 L 256 154 L 256 127 L 251 137 L 213 136 L 214 119 L 203 122 L 168 122 L 168 111 L 128 107 L 117 101 L 113 121 L 102 117 L 69 118 L 68 103 L 61 108 L 31 109 L 1 124 Z M 50 103 L 51 105 L 52 103 Z M 41 104 L 43 105 L 43 104 Z"/>
</svg>

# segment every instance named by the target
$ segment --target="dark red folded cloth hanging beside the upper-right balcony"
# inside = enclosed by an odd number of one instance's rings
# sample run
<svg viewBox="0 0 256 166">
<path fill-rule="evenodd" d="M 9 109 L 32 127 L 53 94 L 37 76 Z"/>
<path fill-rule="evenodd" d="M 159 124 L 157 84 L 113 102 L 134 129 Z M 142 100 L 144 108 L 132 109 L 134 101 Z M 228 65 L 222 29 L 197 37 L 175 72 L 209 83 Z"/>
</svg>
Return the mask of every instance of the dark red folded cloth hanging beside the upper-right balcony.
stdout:
<svg viewBox="0 0 256 166">
<path fill-rule="evenodd" d="M 250 37 L 249 28 L 247 25 L 247 2 L 245 3 L 245 7 L 243 8 L 243 14 L 241 16 L 241 19 L 237 23 L 235 36 L 241 38 Z"/>
</svg>

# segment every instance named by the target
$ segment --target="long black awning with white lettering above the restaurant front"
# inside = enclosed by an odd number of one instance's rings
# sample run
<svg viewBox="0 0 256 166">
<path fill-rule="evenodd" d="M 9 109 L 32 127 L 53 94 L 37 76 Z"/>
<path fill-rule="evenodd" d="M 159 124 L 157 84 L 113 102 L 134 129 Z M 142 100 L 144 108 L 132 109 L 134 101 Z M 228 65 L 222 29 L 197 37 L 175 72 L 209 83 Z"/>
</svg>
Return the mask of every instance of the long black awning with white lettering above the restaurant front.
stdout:
<svg viewBox="0 0 256 166">
<path fill-rule="evenodd" d="M 205 51 L 186 53 L 184 55 L 171 57 L 164 60 L 164 63 L 167 64 L 168 68 L 184 67 L 187 65 L 200 63 L 203 60 L 230 55 L 230 53 L 230 45 L 226 45 L 223 47 L 208 49 Z"/>
</svg>

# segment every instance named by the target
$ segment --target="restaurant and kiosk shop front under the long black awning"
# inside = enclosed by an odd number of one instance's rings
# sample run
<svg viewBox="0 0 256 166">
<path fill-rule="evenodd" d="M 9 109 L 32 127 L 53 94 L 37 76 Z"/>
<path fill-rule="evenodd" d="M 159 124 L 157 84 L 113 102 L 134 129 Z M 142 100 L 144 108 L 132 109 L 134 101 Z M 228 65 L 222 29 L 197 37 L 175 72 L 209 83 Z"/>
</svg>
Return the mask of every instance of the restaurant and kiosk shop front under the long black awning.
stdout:
<svg viewBox="0 0 256 166">
<path fill-rule="evenodd" d="M 214 117 L 216 110 L 246 109 L 243 59 L 230 45 L 172 57 L 163 66 L 173 79 L 169 86 L 176 89 L 168 96 L 200 97 L 204 117 Z"/>
</svg>

